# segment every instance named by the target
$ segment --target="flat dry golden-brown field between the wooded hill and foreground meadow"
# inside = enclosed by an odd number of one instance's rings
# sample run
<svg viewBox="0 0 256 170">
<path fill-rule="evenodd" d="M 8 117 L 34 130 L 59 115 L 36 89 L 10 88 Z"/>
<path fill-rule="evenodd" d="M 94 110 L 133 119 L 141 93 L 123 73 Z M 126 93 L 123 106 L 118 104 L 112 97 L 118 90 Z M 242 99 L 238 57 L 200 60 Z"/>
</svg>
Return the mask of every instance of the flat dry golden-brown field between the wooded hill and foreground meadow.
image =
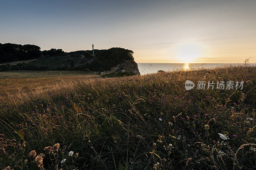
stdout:
<svg viewBox="0 0 256 170">
<path fill-rule="evenodd" d="M 12 71 L 0 72 L 0 95 L 48 89 L 56 84 L 96 78 L 96 72 L 84 71 Z"/>
</svg>

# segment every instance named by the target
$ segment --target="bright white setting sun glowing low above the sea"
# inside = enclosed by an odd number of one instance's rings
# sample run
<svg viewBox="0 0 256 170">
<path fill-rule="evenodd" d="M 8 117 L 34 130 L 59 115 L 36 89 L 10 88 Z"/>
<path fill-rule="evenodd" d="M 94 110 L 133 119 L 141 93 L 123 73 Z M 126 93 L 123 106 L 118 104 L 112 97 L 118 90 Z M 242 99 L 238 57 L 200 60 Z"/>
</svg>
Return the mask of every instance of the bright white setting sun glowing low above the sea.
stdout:
<svg viewBox="0 0 256 170">
<path fill-rule="evenodd" d="M 189 62 L 202 57 L 203 47 L 197 42 L 186 42 L 176 46 L 175 56 L 180 61 Z"/>
</svg>

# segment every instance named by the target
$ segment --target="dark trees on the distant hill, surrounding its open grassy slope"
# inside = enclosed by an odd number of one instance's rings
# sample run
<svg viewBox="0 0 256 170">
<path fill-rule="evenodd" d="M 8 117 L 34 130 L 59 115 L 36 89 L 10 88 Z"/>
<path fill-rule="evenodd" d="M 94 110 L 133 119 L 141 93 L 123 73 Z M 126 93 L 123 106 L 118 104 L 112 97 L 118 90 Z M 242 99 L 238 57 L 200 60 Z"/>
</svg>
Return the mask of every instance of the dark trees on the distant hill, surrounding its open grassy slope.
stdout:
<svg viewBox="0 0 256 170">
<path fill-rule="evenodd" d="M 40 66 L 38 63 L 37 66 L 31 65 L 25 62 L 20 62 L 15 65 L 10 65 L 8 62 L 12 61 L 24 61 L 37 59 L 41 56 L 65 56 L 92 59 L 92 50 L 80 50 L 75 52 L 66 53 L 62 49 L 51 49 L 40 51 L 40 47 L 36 45 L 18 45 L 18 44 L 1 44 L 0 43 L 0 63 L 6 62 L 6 64 L 0 65 L 0 71 L 11 71 L 11 70 L 84 70 L 90 69 L 92 71 L 106 71 L 110 70 L 112 67 L 117 66 L 118 64 L 124 63 L 127 60 L 133 60 L 133 51 L 113 47 L 108 50 L 94 50 L 95 59 L 90 62 L 84 63 L 78 66 L 74 66 L 74 61 L 70 62 L 70 65 L 63 66 L 60 62 L 59 66 L 54 68 L 49 66 Z M 72 60 L 72 58 L 70 59 Z"/>
</svg>

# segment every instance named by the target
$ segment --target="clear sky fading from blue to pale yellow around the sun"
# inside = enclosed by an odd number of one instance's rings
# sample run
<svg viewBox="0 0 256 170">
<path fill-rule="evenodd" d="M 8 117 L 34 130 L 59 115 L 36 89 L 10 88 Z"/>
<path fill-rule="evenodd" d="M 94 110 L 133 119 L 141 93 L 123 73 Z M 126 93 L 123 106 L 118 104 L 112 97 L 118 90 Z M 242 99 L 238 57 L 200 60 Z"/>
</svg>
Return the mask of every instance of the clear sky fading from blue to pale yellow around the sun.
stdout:
<svg viewBox="0 0 256 170">
<path fill-rule="evenodd" d="M 256 62 L 256 0 L 0 0 L 0 43 L 122 47 L 145 63 Z"/>
</svg>

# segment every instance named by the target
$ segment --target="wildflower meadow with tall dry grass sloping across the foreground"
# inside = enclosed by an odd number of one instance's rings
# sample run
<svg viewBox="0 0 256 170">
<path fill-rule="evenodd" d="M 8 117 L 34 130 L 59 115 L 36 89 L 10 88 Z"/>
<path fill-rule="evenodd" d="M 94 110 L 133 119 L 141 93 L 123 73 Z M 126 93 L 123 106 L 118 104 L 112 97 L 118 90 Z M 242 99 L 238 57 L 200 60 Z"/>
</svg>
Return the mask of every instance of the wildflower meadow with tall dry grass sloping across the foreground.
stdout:
<svg viewBox="0 0 256 170">
<path fill-rule="evenodd" d="M 0 168 L 256 168 L 256 67 L 77 79 L 2 96 Z M 187 91 L 186 80 L 244 86 Z"/>
</svg>

